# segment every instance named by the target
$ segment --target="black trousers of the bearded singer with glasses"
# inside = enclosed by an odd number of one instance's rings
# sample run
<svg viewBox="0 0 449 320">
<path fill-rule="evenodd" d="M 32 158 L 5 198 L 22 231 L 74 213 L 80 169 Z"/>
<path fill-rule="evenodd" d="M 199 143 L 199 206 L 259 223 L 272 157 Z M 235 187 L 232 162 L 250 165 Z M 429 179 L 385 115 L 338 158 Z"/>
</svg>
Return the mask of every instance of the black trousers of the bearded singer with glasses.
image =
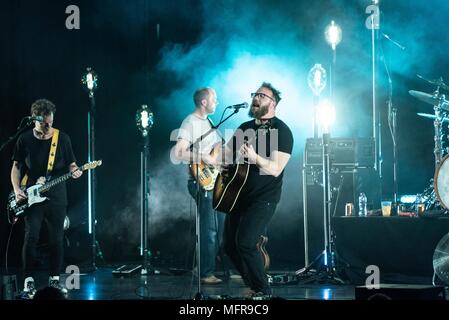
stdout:
<svg viewBox="0 0 449 320">
<path fill-rule="evenodd" d="M 263 257 L 257 242 L 274 215 L 276 203 L 257 201 L 226 215 L 224 249 L 244 282 L 254 291 L 270 294 Z"/>
</svg>

